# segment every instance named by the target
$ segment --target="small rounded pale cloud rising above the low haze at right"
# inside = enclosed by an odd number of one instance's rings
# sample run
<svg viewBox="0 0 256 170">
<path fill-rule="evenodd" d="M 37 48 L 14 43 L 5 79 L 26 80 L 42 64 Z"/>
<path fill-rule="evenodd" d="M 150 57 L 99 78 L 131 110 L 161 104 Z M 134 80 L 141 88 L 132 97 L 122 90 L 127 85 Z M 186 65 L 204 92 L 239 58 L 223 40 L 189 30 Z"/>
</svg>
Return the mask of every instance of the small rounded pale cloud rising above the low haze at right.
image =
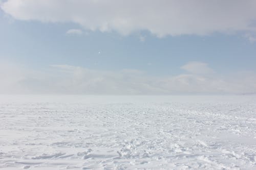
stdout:
<svg viewBox="0 0 256 170">
<path fill-rule="evenodd" d="M 213 74 L 214 70 L 211 69 L 207 63 L 202 62 L 189 62 L 183 66 L 182 69 L 190 72 L 191 74 Z"/>
</svg>

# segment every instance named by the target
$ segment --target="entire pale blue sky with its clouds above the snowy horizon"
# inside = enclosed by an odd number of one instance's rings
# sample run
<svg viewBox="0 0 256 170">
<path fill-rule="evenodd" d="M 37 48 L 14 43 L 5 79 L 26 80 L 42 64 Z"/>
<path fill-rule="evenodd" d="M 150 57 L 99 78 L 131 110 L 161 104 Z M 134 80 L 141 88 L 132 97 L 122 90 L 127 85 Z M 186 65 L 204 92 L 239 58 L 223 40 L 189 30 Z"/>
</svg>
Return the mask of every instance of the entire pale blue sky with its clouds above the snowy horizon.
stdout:
<svg viewBox="0 0 256 170">
<path fill-rule="evenodd" d="M 255 94 L 256 1 L 2 0 L 2 94 Z"/>
</svg>

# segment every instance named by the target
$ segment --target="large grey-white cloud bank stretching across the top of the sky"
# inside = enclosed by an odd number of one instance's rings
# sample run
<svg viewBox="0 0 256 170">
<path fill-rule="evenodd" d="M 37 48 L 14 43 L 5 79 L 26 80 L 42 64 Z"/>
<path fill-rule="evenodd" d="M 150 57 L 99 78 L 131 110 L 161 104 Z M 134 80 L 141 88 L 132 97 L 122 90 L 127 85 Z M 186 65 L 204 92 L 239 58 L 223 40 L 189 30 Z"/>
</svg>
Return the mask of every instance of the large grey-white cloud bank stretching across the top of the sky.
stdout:
<svg viewBox="0 0 256 170">
<path fill-rule="evenodd" d="M 256 1 L 7 0 L 2 10 L 20 20 L 74 22 L 122 35 L 147 30 L 166 35 L 255 32 Z"/>
</svg>

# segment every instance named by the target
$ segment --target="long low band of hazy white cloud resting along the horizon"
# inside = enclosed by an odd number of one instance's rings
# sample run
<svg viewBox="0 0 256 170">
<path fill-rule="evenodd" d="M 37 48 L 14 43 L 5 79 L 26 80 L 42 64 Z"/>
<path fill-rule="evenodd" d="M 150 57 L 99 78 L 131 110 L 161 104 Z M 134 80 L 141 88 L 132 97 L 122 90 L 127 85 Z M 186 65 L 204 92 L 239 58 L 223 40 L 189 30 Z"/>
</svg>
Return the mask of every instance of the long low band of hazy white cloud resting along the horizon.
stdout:
<svg viewBox="0 0 256 170">
<path fill-rule="evenodd" d="M 40 71 L 10 63 L 0 66 L 0 73 L 4 73 L 0 74 L 0 93 L 9 94 L 256 93 L 255 72 L 241 72 L 232 76 L 208 76 L 190 72 L 155 77 L 137 69 L 106 71 L 54 64 Z"/>
</svg>

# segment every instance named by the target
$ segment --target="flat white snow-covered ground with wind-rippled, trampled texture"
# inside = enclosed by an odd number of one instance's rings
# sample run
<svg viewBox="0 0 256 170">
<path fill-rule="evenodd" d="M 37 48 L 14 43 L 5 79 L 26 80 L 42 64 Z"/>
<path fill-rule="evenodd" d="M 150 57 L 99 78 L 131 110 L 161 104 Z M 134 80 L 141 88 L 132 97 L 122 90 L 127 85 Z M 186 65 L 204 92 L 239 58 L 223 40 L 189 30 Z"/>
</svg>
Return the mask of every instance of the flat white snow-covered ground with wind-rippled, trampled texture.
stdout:
<svg viewBox="0 0 256 170">
<path fill-rule="evenodd" d="M 0 96 L 0 169 L 256 169 L 256 96 Z"/>
</svg>

